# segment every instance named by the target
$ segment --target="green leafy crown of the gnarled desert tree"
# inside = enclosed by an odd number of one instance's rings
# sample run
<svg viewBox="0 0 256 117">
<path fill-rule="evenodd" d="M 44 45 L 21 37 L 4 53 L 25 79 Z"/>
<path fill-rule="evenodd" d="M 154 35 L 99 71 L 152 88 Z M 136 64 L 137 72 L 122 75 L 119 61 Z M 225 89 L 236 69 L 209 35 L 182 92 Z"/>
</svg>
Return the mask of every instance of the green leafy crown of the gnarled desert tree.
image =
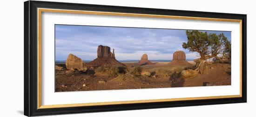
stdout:
<svg viewBox="0 0 256 117">
<path fill-rule="evenodd" d="M 219 54 L 229 53 L 231 55 L 231 45 L 223 33 L 201 32 L 197 30 L 186 31 L 188 42 L 183 42 L 182 47 L 189 52 L 198 52 L 200 59 L 208 59 L 218 56 Z M 230 47 L 230 49 L 229 49 Z"/>
</svg>

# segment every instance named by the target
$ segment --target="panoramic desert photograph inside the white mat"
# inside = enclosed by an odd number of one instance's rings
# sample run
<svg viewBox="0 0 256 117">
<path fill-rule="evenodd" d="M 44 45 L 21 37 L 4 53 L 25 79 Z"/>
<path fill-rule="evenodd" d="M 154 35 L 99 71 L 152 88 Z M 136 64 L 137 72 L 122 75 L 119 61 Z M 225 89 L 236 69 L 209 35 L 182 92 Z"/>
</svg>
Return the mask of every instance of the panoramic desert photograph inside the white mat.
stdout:
<svg viewBox="0 0 256 117">
<path fill-rule="evenodd" d="M 231 32 L 55 25 L 55 92 L 231 85 Z"/>
</svg>

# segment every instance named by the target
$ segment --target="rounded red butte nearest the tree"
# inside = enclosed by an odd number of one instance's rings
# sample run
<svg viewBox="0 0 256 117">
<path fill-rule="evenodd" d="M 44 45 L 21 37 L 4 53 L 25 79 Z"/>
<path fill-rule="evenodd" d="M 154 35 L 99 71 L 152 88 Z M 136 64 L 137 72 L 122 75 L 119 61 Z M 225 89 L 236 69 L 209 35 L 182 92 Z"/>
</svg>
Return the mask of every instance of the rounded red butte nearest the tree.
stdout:
<svg viewBox="0 0 256 117">
<path fill-rule="evenodd" d="M 173 66 L 190 66 L 191 64 L 186 61 L 186 54 L 183 51 L 175 51 L 173 53 L 173 60 L 168 63 Z"/>
</svg>

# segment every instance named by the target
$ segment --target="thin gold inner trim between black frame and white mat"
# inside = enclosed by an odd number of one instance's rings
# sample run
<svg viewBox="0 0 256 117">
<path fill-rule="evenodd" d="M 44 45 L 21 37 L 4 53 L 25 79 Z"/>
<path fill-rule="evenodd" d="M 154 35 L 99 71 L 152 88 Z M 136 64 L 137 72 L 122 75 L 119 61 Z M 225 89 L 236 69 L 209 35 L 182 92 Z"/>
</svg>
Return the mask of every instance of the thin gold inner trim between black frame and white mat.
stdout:
<svg viewBox="0 0 256 117">
<path fill-rule="evenodd" d="M 132 100 L 132 101 L 115 101 L 115 102 L 97 102 L 97 103 L 81 103 L 81 104 L 56 104 L 56 105 L 42 105 L 41 104 L 41 15 L 42 12 L 50 13 L 76 13 L 76 14 L 93 14 L 93 15 L 112 15 L 112 16 L 127 16 L 127 17 L 146 17 L 146 18 L 165 18 L 165 19 L 179 19 L 179 20 L 207 20 L 207 21 L 227 21 L 240 23 L 240 95 L 228 96 L 211 96 L 211 97 L 185 97 L 185 98 L 169 98 L 169 99 L 149 99 L 149 100 Z M 153 14 L 137 14 L 137 13 L 115 13 L 115 12 L 96 12 L 96 11 L 79 11 L 79 10 L 63 10 L 63 9 L 37 9 L 38 20 L 38 79 L 37 79 L 37 108 L 65 108 L 65 107 L 79 107 L 79 106 L 96 106 L 96 105 L 112 105 L 112 104 L 135 104 L 135 103 L 153 103 L 153 102 L 170 102 L 183 100 L 202 100 L 202 99 L 218 99 L 218 98 L 233 98 L 242 97 L 242 20 L 234 19 L 218 19 L 218 18 L 202 18 L 202 17 L 186 17 L 186 16 L 169 16 L 169 15 L 153 15 Z"/>
</svg>

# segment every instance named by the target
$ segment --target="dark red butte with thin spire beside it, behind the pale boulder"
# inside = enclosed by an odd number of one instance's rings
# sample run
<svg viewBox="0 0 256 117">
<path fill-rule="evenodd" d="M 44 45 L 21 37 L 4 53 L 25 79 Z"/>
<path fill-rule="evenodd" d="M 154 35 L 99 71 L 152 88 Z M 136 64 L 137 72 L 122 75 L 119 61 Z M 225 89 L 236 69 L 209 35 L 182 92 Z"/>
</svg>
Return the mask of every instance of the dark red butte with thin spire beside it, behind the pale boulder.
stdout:
<svg viewBox="0 0 256 117">
<path fill-rule="evenodd" d="M 110 52 L 110 47 L 99 45 L 97 49 L 97 58 L 89 62 L 90 66 L 101 66 L 101 65 L 124 65 L 115 59 L 115 50 L 113 53 Z"/>
</svg>

